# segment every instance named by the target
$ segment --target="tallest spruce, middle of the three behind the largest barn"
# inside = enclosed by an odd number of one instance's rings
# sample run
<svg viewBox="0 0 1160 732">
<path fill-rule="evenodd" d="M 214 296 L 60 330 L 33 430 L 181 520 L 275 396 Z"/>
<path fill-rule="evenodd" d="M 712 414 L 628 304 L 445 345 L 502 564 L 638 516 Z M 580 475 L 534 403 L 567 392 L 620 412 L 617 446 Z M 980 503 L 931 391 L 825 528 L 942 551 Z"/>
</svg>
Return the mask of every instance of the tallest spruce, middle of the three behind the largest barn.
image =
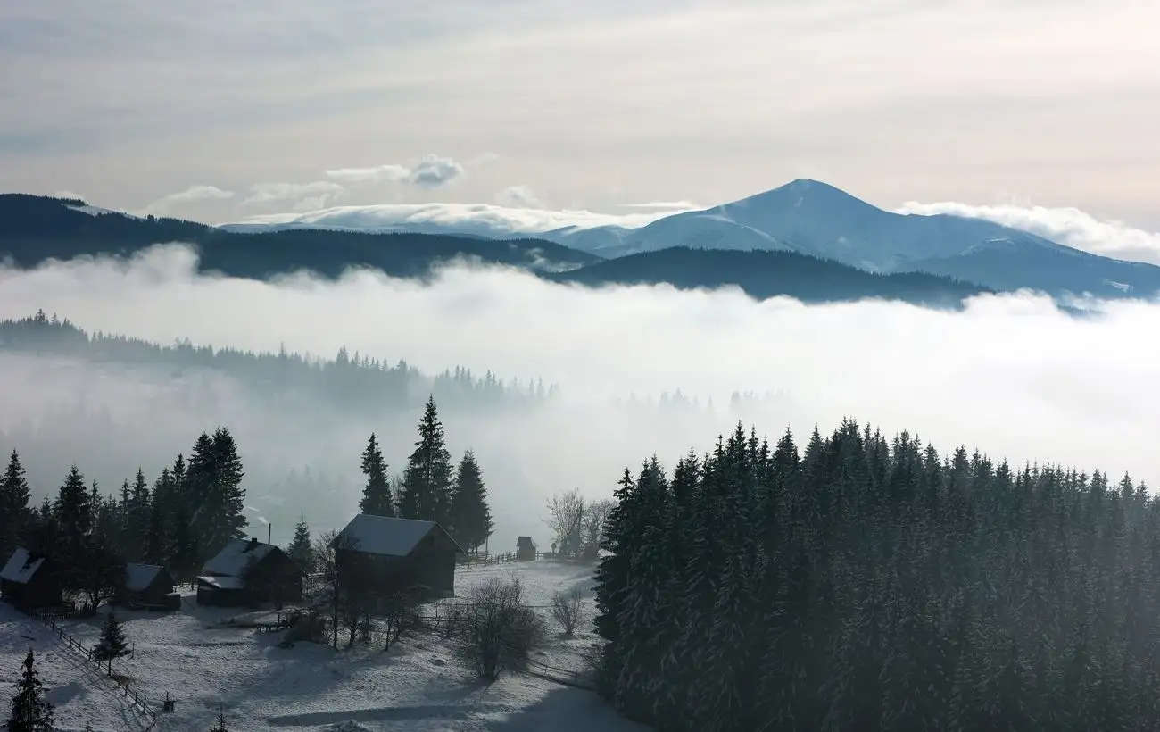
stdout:
<svg viewBox="0 0 1160 732">
<path fill-rule="evenodd" d="M 448 526 L 454 480 L 451 454 L 444 443 L 443 425 L 438 420 L 435 397 L 427 399 L 419 421 L 419 440 L 403 473 L 399 515 Z"/>
</svg>

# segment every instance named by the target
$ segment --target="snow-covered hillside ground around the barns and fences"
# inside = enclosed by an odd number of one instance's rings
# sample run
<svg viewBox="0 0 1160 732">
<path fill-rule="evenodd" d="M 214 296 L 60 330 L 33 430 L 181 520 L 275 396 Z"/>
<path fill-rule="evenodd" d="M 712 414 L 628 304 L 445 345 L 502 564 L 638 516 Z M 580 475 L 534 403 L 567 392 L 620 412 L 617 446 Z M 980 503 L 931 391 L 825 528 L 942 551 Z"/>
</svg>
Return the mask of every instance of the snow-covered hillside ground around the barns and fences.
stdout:
<svg viewBox="0 0 1160 732">
<path fill-rule="evenodd" d="M 552 593 L 573 587 L 586 590 L 590 617 L 590 567 L 536 561 L 462 570 L 456 590 L 516 572 L 528 602 L 546 606 Z M 559 668 L 580 667 L 583 650 L 594 639 L 578 632 L 561 637 L 550 610 L 538 610 L 548 623 L 548 644 L 536 659 Z M 473 681 L 455 665 L 435 636 L 405 638 L 390 652 L 382 646 L 333 651 L 299 643 L 277 647 L 280 633 L 230 628 L 229 618 L 253 619 L 261 614 L 225 608 L 198 608 L 187 596 L 172 614 L 118 611 L 132 658 L 114 668 L 129 676 L 138 694 L 176 700 L 176 711 L 159 713 L 157 730 L 205 732 L 226 712 L 227 727 L 239 732 L 328 730 L 385 732 L 394 730 L 506 732 L 641 732 L 644 727 L 617 717 L 595 694 L 552 681 L 507 674 L 493 684 Z M 95 644 L 103 616 L 63 623 L 78 640 Z M 587 631 L 590 624 L 585 624 Z M 28 648 L 37 655 L 42 680 L 57 706 L 57 726 L 96 732 L 146 729 L 116 686 L 102 680 L 85 661 L 38 621 L 0 603 L 0 702 L 7 713 L 12 684 Z"/>
</svg>

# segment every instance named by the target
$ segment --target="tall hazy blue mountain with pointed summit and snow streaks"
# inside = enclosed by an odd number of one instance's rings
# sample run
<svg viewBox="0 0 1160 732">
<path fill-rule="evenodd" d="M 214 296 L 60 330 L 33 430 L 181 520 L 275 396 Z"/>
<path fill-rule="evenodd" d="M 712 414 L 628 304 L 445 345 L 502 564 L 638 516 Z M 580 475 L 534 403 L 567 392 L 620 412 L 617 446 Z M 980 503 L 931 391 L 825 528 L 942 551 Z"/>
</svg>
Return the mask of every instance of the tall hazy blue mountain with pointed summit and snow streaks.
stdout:
<svg viewBox="0 0 1160 732">
<path fill-rule="evenodd" d="M 832 259 L 867 271 L 945 275 L 996 290 L 1108 298 L 1160 291 L 1160 267 L 1153 264 L 1099 256 L 983 219 L 893 213 L 811 180 L 674 213 L 626 234 L 590 229 L 583 238 L 544 235 L 606 258 L 673 246 L 760 248 Z"/>
</svg>

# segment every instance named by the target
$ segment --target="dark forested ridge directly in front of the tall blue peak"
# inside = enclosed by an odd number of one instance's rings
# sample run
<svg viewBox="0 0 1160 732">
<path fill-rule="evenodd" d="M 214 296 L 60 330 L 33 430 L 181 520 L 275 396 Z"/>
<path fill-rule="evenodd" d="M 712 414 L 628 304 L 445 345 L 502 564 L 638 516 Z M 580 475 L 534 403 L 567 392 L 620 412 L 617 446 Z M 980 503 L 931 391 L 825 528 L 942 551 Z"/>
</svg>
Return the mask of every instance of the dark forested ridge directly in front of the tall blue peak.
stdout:
<svg viewBox="0 0 1160 732">
<path fill-rule="evenodd" d="M 679 290 L 693 290 L 737 285 L 756 299 L 782 295 L 805 303 L 882 298 L 940 309 L 958 309 L 964 298 L 989 291 L 922 273 L 868 273 L 796 252 L 688 247 L 628 254 L 543 276 L 553 282 L 587 287 L 667 283 Z"/>
</svg>

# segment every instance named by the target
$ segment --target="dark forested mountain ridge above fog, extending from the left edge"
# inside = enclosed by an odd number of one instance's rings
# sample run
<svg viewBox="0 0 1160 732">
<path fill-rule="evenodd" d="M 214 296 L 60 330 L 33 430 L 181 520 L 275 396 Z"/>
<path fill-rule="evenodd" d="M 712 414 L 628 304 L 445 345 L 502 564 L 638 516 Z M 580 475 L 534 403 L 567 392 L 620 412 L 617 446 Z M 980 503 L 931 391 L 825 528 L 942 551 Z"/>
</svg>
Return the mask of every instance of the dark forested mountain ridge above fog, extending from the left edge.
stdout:
<svg viewBox="0 0 1160 732">
<path fill-rule="evenodd" d="M 349 267 L 418 276 L 433 264 L 457 256 L 546 271 L 582 267 L 601 259 L 542 239 L 498 241 L 319 229 L 241 233 L 173 218 L 130 216 L 80 200 L 0 195 L 0 258 L 10 258 L 20 267 L 35 267 L 49 259 L 123 256 L 153 244 L 174 241 L 197 247 L 203 271 L 256 278 L 299 269 L 336 277 Z"/>
</svg>

